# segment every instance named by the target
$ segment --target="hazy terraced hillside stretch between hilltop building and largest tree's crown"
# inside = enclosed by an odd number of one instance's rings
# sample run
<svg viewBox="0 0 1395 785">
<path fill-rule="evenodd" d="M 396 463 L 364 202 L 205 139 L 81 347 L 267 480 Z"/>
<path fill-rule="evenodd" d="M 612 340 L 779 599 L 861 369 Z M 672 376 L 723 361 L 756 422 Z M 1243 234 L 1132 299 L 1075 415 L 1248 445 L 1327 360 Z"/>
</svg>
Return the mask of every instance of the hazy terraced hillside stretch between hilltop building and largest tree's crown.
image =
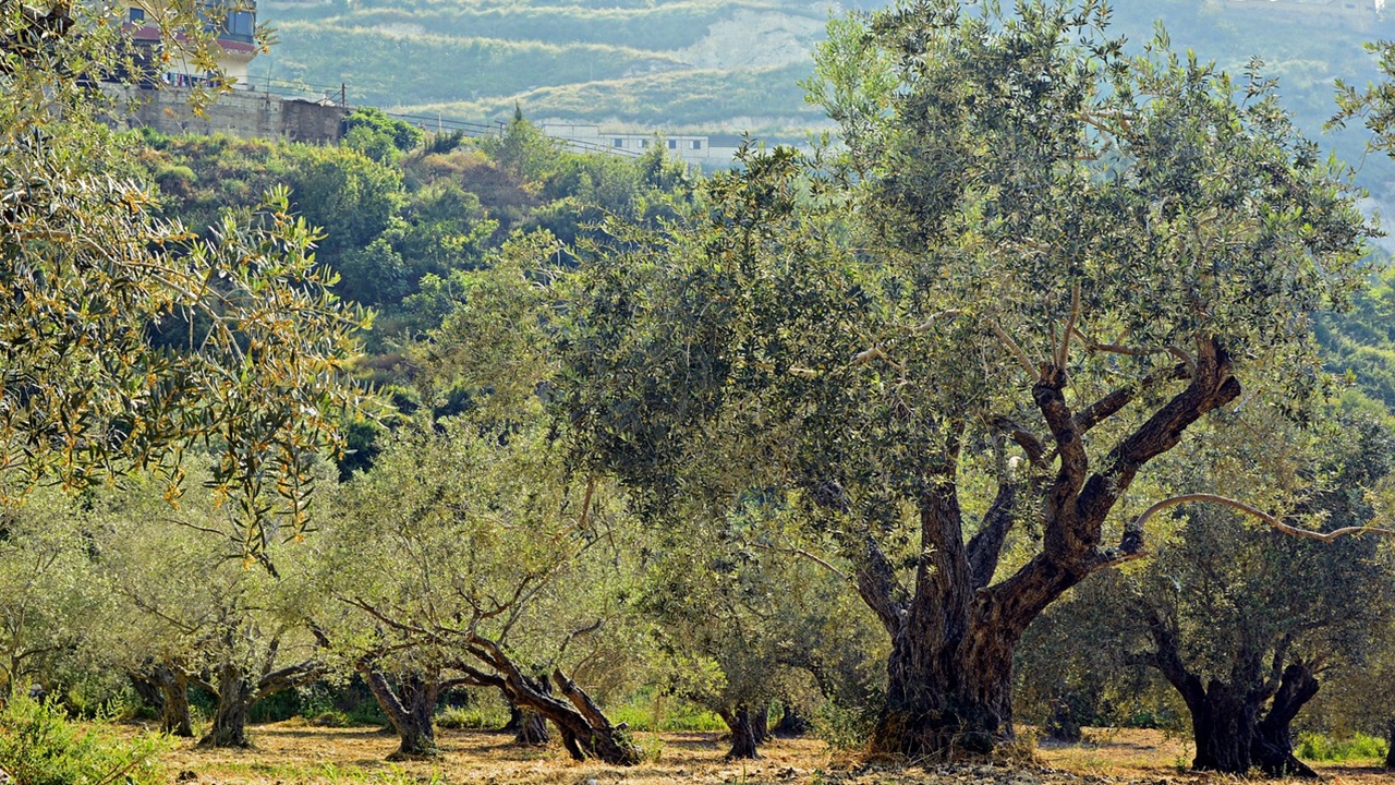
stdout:
<svg viewBox="0 0 1395 785">
<path fill-rule="evenodd" d="M 826 1 L 368 0 L 264 3 L 280 39 L 258 77 L 418 113 L 631 126 L 802 129 L 795 84 Z"/>
</svg>

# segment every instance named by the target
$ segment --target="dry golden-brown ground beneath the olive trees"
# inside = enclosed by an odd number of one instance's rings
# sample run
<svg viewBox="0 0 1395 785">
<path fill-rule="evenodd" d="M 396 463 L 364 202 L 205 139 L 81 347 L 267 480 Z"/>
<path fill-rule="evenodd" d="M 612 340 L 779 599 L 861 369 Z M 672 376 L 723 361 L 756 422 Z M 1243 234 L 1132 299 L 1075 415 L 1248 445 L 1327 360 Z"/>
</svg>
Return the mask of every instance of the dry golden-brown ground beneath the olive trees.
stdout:
<svg viewBox="0 0 1395 785">
<path fill-rule="evenodd" d="M 512 736 L 442 731 L 444 756 L 424 763 L 386 763 L 396 739 L 367 728 L 314 728 L 280 722 L 250 729 L 250 750 L 195 750 L 186 743 L 167 756 L 176 782 L 227 785 L 1222 785 L 1233 777 L 1179 770 L 1190 750 L 1155 731 L 1109 731 L 1084 744 L 1043 744 L 1032 758 L 950 765 L 859 761 L 813 739 L 777 740 L 749 763 L 723 760 L 713 733 L 638 733 L 651 753 L 632 768 L 578 764 L 558 747 L 520 749 Z M 1320 767 L 1336 785 L 1392 784 L 1373 767 Z"/>
</svg>

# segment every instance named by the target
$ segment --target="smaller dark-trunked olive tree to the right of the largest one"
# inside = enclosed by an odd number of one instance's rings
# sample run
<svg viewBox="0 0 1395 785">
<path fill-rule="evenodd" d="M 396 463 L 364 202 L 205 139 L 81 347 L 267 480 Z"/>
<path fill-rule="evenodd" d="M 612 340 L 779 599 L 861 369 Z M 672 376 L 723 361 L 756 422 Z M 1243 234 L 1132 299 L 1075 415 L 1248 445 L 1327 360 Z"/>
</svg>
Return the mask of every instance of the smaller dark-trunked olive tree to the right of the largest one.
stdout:
<svg viewBox="0 0 1395 785">
<path fill-rule="evenodd" d="M 1256 412 L 1229 416 L 1254 425 Z M 1268 429 L 1285 430 L 1292 432 Z M 1179 450 L 1169 462 L 1173 478 L 1226 494 L 1244 486 L 1256 496 L 1262 486 L 1282 489 L 1278 469 L 1299 487 L 1288 501 L 1271 490 L 1274 504 L 1286 504 L 1314 531 L 1332 531 L 1375 517 L 1371 493 L 1389 472 L 1391 440 L 1378 422 L 1339 416 L 1310 433 L 1289 434 L 1306 453 L 1296 462 L 1281 458 L 1283 444 L 1269 439 L 1230 455 Z M 1067 648 L 1119 670 L 1147 666 L 1159 673 L 1190 714 L 1194 768 L 1315 777 L 1295 757 L 1290 726 L 1328 675 L 1378 661 L 1382 631 L 1395 615 L 1382 591 L 1395 570 L 1389 543 L 1374 536 L 1295 538 L 1243 521 L 1228 506 L 1177 510 L 1184 517 L 1172 521 L 1152 559 L 1085 581 L 1056 615 L 1057 623 L 1117 644 L 1070 641 Z"/>
</svg>

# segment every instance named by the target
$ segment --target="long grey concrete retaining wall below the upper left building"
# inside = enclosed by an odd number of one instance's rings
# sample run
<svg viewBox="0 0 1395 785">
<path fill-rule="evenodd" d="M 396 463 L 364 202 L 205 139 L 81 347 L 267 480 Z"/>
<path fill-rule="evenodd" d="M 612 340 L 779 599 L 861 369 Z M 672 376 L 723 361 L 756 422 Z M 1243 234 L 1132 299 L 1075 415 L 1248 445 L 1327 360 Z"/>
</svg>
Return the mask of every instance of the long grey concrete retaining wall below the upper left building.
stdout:
<svg viewBox="0 0 1395 785">
<path fill-rule="evenodd" d="M 347 113 L 335 105 L 286 99 L 279 95 L 239 89 L 218 96 L 202 116 L 188 105 L 188 88 L 112 87 L 130 112 L 114 123 L 151 127 L 163 134 L 229 134 L 243 138 L 283 138 L 311 144 L 339 141 L 340 122 Z M 121 115 L 121 112 L 119 112 Z"/>
</svg>

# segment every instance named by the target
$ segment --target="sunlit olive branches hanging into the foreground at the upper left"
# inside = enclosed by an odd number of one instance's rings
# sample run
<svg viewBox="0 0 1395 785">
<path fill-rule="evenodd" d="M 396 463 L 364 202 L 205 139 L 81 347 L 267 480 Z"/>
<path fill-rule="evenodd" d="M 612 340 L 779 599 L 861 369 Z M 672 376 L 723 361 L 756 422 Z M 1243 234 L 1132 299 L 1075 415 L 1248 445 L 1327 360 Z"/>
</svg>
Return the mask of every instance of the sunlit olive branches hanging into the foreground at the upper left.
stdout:
<svg viewBox="0 0 1395 785">
<path fill-rule="evenodd" d="M 162 3 L 155 21 L 176 57 L 208 64 L 199 10 Z M 285 191 L 208 239 L 160 215 L 92 87 L 130 66 L 117 11 L 0 7 L 0 494 L 133 467 L 177 483 L 198 443 L 258 552 L 304 525 L 308 467 L 339 447 L 338 413 L 357 402 L 342 363 L 363 318 L 329 292 Z M 172 323 L 184 341 L 156 346 Z"/>
</svg>

